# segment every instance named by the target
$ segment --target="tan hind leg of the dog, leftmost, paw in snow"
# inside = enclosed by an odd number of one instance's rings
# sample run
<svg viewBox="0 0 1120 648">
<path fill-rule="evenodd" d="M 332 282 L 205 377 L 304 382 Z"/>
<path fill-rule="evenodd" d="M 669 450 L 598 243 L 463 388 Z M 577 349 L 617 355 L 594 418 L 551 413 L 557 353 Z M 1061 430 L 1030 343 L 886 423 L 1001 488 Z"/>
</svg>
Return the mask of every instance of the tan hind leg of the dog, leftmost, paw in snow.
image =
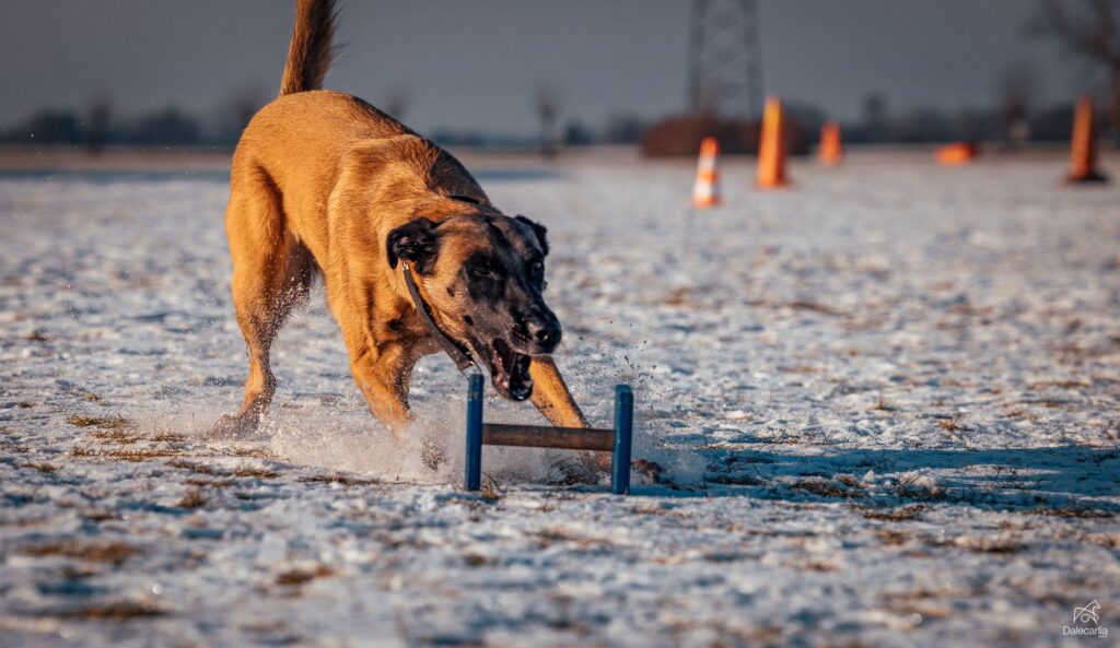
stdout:
<svg viewBox="0 0 1120 648">
<path fill-rule="evenodd" d="M 315 261 L 284 228 L 280 196 L 264 178 L 234 185 L 226 210 L 233 257 L 233 304 L 249 353 L 245 395 L 236 414 L 223 416 L 216 435 L 252 432 L 272 402 L 270 349 L 292 308 L 310 289 Z"/>
</svg>

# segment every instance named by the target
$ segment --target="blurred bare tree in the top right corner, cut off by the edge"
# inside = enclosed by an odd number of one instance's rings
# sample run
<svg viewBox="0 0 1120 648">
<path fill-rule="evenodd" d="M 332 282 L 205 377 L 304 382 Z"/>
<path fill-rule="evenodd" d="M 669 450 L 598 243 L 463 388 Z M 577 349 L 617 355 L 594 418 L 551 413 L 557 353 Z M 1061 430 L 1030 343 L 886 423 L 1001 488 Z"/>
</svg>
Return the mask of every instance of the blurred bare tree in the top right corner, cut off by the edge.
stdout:
<svg viewBox="0 0 1120 648">
<path fill-rule="evenodd" d="M 1105 71 L 1109 123 L 1120 130 L 1120 0 L 1039 0 L 1028 29 L 1061 41 L 1074 56 Z"/>
</svg>

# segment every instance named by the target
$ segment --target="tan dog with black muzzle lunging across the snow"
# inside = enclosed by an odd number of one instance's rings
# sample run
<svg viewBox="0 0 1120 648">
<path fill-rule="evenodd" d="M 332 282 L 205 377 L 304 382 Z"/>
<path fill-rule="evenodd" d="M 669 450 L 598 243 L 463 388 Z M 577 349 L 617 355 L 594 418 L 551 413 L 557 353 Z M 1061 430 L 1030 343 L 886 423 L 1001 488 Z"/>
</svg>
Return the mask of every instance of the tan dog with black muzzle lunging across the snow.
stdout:
<svg viewBox="0 0 1120 648">
<path fill-rule="evenodd" d="M 410 299 L 410 267 L 435 323 L 482 360 L 502 395 L 552 423 L 586 420 L 548 355 L 544 227 L 511 218 L 447 151 L 348 94 L 318 90 L 332 58 L 333 0 L 298 0 L 280 96 L 237 143 L 226 233 L 233 303 L 249 346 L 241 410 L 216 432 L 258 425 L 276 391 L 269 347 L 321 273 L 370 411 L 409 420 L 409 376 L 439 350 Z"/>
</svg>

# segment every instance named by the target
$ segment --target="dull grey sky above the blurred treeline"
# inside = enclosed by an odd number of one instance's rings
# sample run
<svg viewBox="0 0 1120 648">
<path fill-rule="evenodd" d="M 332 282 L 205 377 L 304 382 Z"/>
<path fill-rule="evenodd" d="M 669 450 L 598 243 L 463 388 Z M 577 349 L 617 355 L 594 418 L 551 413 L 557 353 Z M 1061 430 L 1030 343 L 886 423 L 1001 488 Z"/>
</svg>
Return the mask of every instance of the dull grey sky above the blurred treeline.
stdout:
<svg viewBox="0 0 1120 648">
<path fill-rule="evenodd" d="M 280 82 L 292 1 L 0 0 L 0 124 L 108 97 L 115 114 L 177 105 L 220 114 Z M 403 121 L 528 134 L 532 94 L 562 121 L 646 119 L 685 107 L 685 0 L 349 0 L 327 87 L 375 105 L 408 96 Z M 1033 0 L 759 0 L 767 93 L 841 120 L 878 92 L 892 111 L 995 103 L 1002 71 L 1038 73 L 1039 103 L 1072 100 L 1083 66 L 1030 39 Z"/>
</svg>

